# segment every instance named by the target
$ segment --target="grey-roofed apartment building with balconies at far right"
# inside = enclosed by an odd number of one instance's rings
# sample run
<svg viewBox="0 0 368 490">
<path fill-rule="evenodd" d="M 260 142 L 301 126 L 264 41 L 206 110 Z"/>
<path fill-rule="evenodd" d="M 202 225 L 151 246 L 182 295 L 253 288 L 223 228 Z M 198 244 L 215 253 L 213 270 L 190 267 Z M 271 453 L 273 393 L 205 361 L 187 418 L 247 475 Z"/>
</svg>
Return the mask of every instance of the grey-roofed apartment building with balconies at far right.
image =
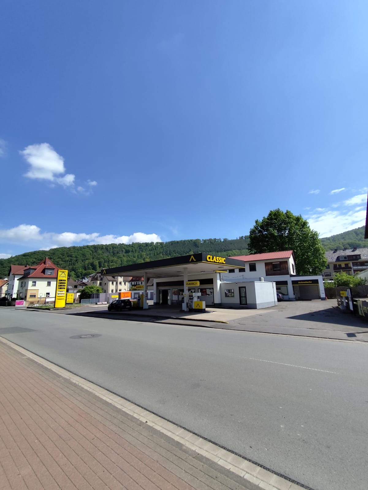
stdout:
<svg viewBox="0 0 368 490">
<path fill-rule="evenodd" d="M 368 248 L 335 248 L 326 252 L 326 259 L 328 264 L 322 275 L 327 280 L 340 272 L 354 275 L 368 269 Z"/>
</svg>

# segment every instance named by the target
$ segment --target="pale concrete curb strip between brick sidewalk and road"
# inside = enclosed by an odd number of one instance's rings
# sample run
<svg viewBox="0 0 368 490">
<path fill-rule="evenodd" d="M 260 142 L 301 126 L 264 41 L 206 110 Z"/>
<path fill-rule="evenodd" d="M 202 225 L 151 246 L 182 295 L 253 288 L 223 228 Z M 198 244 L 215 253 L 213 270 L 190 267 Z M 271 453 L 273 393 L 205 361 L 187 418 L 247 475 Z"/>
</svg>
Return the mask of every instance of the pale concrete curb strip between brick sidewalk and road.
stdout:
<svg viewBox="0 0 368 490">
<path fill-rule="evenodd" d="M 212 441 L 201 438 L 200 436 L 189 432 L 188 430 L 179 427 L 169 420 L 159 417 L 146 409 L 131 403 L 130 401 L 109 392 L 98 385 L 91 383 L 90 381 L 81 378 L 64 368 L 61 368 L 55 364 L 50 363 L 46 359 L 43 359 L 36 354 L 18 346 L 4 338 L 0 337 L 0 341 L 6 345 L 16 349 L 21 354 L 41 364 L 42 366 L 49 368 L 53 372 L 68 379 L 74 384 L 94 393 L 103 400 L 111 403 L 115 407 L 123 410 L 127 414 L 137 418 L 138 420 L 147 423 L 151 427 L 172 438 L 184 446 L 194 450 L 196 453 L 208 458 L 209 460 L 217 463 L 218 465 L 232 471 L 233 473 L 241 476 L 245 479 L 246 485 L 249 490 L 311 490 L 300 483 L 297 483 L 287 477 L 272 472 L 270 469 L 264 466 L 258 466 L 255 462 L 246 460 L 240 455 L 232 453 L 225 448 L 214 444 Z"/>
</svg>

